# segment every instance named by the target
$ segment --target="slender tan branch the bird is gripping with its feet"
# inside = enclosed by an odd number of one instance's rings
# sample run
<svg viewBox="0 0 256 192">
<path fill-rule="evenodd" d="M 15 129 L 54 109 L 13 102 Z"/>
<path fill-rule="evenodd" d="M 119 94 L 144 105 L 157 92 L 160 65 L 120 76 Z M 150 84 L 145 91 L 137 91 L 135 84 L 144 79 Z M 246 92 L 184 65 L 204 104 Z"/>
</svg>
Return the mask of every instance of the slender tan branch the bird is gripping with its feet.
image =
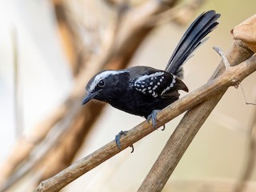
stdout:
<svg viewBox="0 0 256 192">
<path fill-rule="evenodd" d="M 201 86 L 198 90 L 194 90 L 185 97 L 179 99 L 178 101 L 167 106 L 164 110 L 158 113 L 158 127 L 165 125 L 171 119 L 182 114 L 184 111 L 189 110 L 191 107 L 198 105 L 207 98 L 214 98 L 218 93 L 226 90 L 229 86 L 233 86 L 233 82 L 241 82 L 246 76 L 253 73 L 256 70 L 256 56 L 248 59 L 246 62 L 242 62 L 238 66 L 230 67 L 222 75 L 214 80 L 206 83 L 206 85 Z M 121 139 L 122 149 L 131 146 L 134 142 L 145 137 L 154 131 L 154 128 L 148 122 L 142 122 L 138 126 L 129 130 Z M 177 146 L 177 144 L 175 144 Z M 120 150 L 116 146 L 114 141 L 109 142 L 106 146 L 102 146 L 99 150 L 94 151 L 94 153 L 88 155 L 86 158 L 82 158 L 73 165 L 62 170 L 60 173 L 54 175 L 54 177 L 49 178 L 40 183 L 35 191 L 58 191 L 64 186 L 74 181 L 74 179 L 85 174 L 87 171 L 98 166 L 107 159 L 118 154 Z M 170 155 L 172 156 L 172 155 Z M 155 173 L 156 174 L 156 173 Z M 146 190 L 145 190 L 146 191 Z M 150 191 L 150 190 L 149 190 Z M 153 190 L 152 190 L 153 191 Z"/>
</svg>

